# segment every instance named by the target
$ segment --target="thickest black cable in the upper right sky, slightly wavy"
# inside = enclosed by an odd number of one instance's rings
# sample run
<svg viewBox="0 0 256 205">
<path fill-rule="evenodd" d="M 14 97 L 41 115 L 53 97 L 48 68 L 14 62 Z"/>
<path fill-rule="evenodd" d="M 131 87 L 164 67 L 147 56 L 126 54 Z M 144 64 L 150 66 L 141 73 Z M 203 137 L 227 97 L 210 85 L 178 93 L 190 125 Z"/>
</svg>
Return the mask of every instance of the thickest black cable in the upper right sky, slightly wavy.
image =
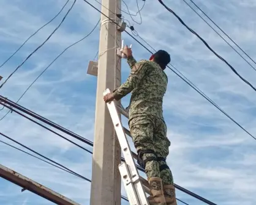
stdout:
<svg viewBox="0 0 256 205">
<path fill-rule="evenodd" d="M 168 12 L 173 13 L 173 15 L 175 15 L 176 18 L 178 18 L 178 20 L 181 22 L 181 24 L 183 24 L 192 34 L 196 35 L 201 41 L 203 41 L 203 43 L 206 45 L 206 47 L 215 54 L 215 56 L 217 56 L 220 60 L 222 60 L 223 62 L 225 62 L 228 67 L 231 68 L 231 70 L 238 76 L 240 77 L 240 79 L 242 79 L 242 81 L 246 82 L 247 85 L 249 85 L 252 89 L 254 89 L 254 91 L 256 91 L 256 88 L 250 84 L 250 82 L 248 82 L 246 79 L 244 79 L 242 76 L 240 76 L 240 74 L 235 70 L 235 68 L 232 67 L 232 65 L 230 65 L 230 63 L 227 62 L 227 60 L 225 60 L 223 57 L 219 56 L 219 54 L 217 54 L 209 45 L 208 43 L 206 43 L 205 40 L 203 40 L 203 38 L 200 37 L 200 35 L 197 34 L 197 32 L 195 32 L 193 29 L 190 29 L 189 26 L 187 26 L 183 20 L 181 20 L 181 18 L 179 18 L 178 15 L 176 15 L 175 12 L 173 12 L 173 10 L 171 10 L 169 7 L 167 7 L 167 5 L 164 4 L 164 2 L 162 2 L 162 0 L 158 0 L 160 2 L 160 4 L 162 4 L 165 9 L 168 10 Z"/>
</svg>

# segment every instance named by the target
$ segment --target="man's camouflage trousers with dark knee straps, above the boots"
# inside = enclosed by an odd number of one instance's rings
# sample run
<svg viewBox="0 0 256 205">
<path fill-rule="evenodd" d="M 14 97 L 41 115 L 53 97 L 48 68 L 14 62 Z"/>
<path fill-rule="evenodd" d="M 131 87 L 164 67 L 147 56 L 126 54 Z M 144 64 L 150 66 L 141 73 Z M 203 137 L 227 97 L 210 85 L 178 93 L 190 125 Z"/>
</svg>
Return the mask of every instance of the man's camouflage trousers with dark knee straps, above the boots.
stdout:
<svg viewBox="0 0 256 205">
<path fill-rule="evenodd" d="M 167 138 L 165 121 L 154 116 L 134 117 L 129 120 L 130 134 L 134 146 L 139 151 L 151 149 L 153 153 L 145 153 L 142 159 L 152 157 L 166 160 L 169 154 L 170 141 Z M 164 185 L 173 185 L 173 176 L 165 160 L 149 160 L 145 164 L 146 175 L 149 178 L 157 177 L 163 180 Z"/>
</svg>

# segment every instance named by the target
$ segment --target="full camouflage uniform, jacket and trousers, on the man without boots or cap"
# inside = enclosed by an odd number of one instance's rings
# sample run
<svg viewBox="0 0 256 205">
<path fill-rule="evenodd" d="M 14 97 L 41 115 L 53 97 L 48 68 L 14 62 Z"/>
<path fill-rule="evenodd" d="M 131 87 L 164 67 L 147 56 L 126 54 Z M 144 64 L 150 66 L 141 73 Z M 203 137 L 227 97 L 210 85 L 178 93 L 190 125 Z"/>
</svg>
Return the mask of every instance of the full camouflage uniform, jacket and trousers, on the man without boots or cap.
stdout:
<svg viewBox="0 0 256 205">
<path fill-rule="evenodd" d="M 138 163 L 149 178 L 162 178 L 163 184 L 173 184 L 173 177 L 165 160 L 170 141 L 162 115 L 162 102 L 168 78 L 156 62 L 127 59 L 131 72 L 127 81 L 114 92 L 116 100 L 132 92 L 129 109 L 129 127 Z"/>
</svg>

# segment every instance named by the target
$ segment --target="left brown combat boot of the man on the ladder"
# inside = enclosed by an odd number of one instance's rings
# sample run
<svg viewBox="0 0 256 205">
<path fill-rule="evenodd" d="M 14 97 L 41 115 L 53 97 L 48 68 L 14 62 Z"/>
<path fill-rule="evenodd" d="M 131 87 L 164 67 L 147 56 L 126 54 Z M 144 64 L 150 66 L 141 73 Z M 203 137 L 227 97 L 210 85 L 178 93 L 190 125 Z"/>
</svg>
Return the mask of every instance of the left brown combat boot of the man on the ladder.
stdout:
<svg viewBox="0 0 256 205">
<path fill-rule="evenodd" d="M 150 193 L 148 202 L 150 205 L 166 205 L 164 190 L 161 178 L 150 178 L 148 179 Z"/>
</svg>

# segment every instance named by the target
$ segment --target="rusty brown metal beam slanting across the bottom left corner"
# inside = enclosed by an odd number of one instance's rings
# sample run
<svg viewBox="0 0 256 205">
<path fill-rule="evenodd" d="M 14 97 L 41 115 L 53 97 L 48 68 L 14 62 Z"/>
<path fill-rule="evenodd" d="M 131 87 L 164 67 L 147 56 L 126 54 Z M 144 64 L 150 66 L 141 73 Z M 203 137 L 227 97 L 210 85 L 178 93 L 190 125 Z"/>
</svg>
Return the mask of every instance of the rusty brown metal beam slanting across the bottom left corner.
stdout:
<svg viewBox="0 0 256 205">
<path fill-rule="evenodd" d="M 32 179 L 26 178 L 26 176 L 23 176 L 17 173 L 16 171 L 13 171 L 7 167 L 4 167 L 3 165 L 0 165 L 0 177 L 10 182 L 13 182 L 14 184 L 17 184 L 20 187 L 23 187 L 21 192 L 23 192 L 24 190 L 29 190 L 55 204 L 80 205 L 78 203 L 75 203 L 75 201 L 72 201 L 69 198 L 66 198 L 65 196 L 60 195 L 59 193 L 56 193 L 53 190 L 50 190 L 47 187 L 44 187 L 43 185 L 38 184 L 35 181 L 32 181 Z"/>
</svg>

